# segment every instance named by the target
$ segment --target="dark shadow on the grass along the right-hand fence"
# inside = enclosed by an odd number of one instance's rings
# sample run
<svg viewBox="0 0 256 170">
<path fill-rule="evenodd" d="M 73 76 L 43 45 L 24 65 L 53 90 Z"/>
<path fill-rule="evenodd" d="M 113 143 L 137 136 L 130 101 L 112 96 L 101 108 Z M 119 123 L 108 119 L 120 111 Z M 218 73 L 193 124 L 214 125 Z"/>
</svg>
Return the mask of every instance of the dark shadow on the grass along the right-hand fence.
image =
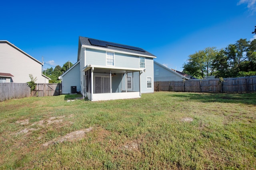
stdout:
<svg viewBox="0 0 256 170">
<path fill-rule="evenodd" d="M 178 93 L 168 94 L 170 97 L 181 98 L 182 100 L 198 100 L 200 102 L 221 102 L 234 104 L 256 105 L 256 93 L 243 94 L 216 94 L 216 93 Z"/>
</svg>

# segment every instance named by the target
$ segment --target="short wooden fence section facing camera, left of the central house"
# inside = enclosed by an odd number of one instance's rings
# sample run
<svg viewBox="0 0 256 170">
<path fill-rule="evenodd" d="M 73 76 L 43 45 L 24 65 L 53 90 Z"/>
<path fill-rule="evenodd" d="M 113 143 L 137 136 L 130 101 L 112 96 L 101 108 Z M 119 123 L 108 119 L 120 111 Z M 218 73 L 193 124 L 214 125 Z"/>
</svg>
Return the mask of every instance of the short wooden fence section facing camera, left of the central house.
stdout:
<svg viewBox="0 0 256 170">
<path fill-rule="evenodd" d="M 38 83 L 36 89 L 32 91 L 32 96 L 58 96 L 62 94 L 61 83 Z"/>
</svg>

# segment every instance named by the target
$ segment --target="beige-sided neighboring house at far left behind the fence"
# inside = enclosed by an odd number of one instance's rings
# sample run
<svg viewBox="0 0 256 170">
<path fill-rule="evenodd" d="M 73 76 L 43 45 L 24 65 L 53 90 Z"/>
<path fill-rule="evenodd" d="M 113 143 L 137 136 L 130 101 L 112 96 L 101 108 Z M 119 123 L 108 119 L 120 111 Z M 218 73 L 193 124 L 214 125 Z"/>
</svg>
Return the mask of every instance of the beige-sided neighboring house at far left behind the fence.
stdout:
<svg viewBox="0 0 256 170">
<path fill-rule="evenodd" d="M 0 40 L 0 82 L 26 83 L 32 74 L 36 83 L 48 83 L 50 78 L 42 74 L 42 64 L 12 43 Z"/>
</svg>

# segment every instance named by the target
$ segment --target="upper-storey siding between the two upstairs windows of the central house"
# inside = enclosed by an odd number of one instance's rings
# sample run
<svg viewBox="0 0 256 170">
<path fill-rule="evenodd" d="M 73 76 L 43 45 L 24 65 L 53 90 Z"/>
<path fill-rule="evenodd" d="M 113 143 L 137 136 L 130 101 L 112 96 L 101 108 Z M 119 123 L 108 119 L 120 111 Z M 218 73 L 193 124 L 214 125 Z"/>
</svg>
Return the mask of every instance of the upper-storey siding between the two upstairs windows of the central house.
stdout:
<svg viewBox="0 0 256 170">
<path fill-rule="evenodd" d="M 139 57 L 135 55 L 127 55 L 115 53 L 115 66 L 127 68 L 139 68 Z"/>
</svg>

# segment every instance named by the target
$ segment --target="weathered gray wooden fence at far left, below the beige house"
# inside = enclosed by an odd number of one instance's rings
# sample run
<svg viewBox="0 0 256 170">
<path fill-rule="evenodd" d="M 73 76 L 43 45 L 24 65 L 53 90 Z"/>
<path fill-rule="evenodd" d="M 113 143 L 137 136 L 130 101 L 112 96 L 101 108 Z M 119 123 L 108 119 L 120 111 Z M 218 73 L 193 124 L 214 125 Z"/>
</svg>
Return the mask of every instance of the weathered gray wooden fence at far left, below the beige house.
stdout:
<svg viewBox="0 0 256 170">
<path fill-rule="evenodd" d="M 0 83 L 0 101 L 30 97 L 30 87 L 26 83 Z"/>
</svg>

